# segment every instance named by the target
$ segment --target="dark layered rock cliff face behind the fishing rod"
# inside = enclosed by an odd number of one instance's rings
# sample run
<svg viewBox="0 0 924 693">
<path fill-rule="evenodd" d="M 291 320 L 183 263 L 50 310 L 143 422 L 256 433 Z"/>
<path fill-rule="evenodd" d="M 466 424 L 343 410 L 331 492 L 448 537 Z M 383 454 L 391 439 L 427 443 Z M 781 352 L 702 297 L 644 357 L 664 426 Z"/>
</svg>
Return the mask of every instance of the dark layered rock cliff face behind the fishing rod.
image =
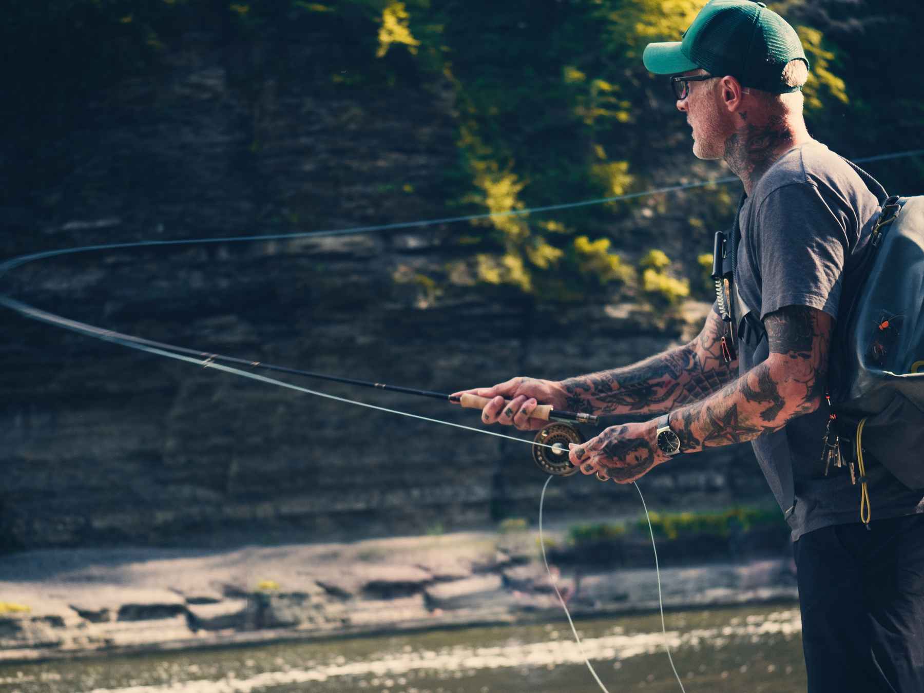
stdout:
<svg viewBox="0 0 924 693">
<path fill-rule="evenodd" d="M 310 45 L 310 42 L 308 42 Z M 438 217 L 456 156 L 451 91 L 318 91 L 245 75 L 235 46 L 189 35 L 156 79 L 89 94 L 60 139 L 67 176 L 3 211 L 6 257 L 140 239 L 234 237 Z M 247 77 L 247 89 L 241 84 Z M 402 266 L 438 266 L 448 226 L 414 233 L 104 250 L 26 265 L 5 292 L 106 328 L 246 359 L 451 392 L 644 358 L 696 329 L 650 312 L 458 289 L 421 307 Z M 697 312 L 699 310 L 699 313 Z M 529 447 L 298 395 L 0 315 L 0 548 L 333 541 L 532 516 Z M 429 400 L 300 384 L 478 426 Z M 747 449 L 659 468 L 650 505 L 765 501 Z M 556 480 L 550 511 L 638 512 L 632 489 Z"/>
</svg>

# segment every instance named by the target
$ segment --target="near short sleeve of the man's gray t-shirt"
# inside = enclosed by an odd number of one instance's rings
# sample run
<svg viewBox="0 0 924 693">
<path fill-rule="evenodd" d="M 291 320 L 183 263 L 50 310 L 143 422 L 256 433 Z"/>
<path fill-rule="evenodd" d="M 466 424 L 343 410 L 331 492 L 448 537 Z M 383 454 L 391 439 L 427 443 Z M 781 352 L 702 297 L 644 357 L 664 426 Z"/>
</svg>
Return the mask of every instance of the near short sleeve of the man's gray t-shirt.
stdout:
<svg viewBox="0 0 924 693">
<path fill-rule="evenodd" d="M 786 306 L 837 317 L 849 244 L 843 221 L 811 183 L 773 190 L 760 204 L 754 242 L 760 263 L 760 320 Z"/>
</svg>

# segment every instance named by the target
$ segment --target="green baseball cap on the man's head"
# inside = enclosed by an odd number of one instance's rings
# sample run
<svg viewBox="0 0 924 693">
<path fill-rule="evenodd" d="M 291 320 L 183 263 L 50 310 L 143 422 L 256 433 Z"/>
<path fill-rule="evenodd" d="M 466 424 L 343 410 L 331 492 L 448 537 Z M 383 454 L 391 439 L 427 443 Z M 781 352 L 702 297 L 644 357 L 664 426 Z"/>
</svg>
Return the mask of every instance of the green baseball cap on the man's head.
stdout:
<svg viewBox="0 0 924 693">
<path fill-rule="evenodd" d="M 716 77 L 731 75 L 743 87 L 781 94 L 798 91 L 783 83 L 790 60 L 808 58 L 798 34 L 763 3 L 711 0 L 699 10 L 683 41 L 649 43 L 642 55 L 656 75 L 676 75 L 701 67 Z"/>
</svg>

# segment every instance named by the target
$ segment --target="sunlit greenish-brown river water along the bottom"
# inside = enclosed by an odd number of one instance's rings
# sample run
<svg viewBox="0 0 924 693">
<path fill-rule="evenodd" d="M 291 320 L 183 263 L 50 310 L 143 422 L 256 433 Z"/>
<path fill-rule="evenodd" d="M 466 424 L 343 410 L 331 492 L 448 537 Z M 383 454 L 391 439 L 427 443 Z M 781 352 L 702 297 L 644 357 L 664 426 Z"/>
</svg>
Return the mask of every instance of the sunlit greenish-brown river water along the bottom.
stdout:
<svg viewBox="0 0 924 693">
<path fill-rule="evenodd" d="M 687 693 L 806 689 L 795 604 L 666 614 Z M 680 691 L 658 614 L 578 621 L 610 693 Z M 0 693 L 592 693 L 567 623 L 0 666 Z"/>
</svg>

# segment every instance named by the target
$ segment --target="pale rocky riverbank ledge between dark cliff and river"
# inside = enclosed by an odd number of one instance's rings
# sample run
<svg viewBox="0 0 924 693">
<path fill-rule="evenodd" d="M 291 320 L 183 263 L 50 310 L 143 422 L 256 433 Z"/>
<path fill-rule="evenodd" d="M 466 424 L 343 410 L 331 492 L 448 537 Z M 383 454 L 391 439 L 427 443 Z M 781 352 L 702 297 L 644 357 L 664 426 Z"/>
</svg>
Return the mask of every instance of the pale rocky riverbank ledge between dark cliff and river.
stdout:
<svg viewBox="0 0 924 693">
<path fill-rule="evenodd" d="M 668 564 L 673 543 L 659 546 Z M 619 554 L 641 551 L 639 543 Z M 595 566 L 569 563 L 558 549 L 553 575 L 573 614 L 656 609 L 650 544 L 648 553 L 650 567 Z M 796 598 L 782 553 L 667 565 L 661 577 L 667 608 Z M 51 550 L 0 562 L 0 662 L 560 617 L 537 538 L 525 531 L 234 551 Z"/>
</svg>

